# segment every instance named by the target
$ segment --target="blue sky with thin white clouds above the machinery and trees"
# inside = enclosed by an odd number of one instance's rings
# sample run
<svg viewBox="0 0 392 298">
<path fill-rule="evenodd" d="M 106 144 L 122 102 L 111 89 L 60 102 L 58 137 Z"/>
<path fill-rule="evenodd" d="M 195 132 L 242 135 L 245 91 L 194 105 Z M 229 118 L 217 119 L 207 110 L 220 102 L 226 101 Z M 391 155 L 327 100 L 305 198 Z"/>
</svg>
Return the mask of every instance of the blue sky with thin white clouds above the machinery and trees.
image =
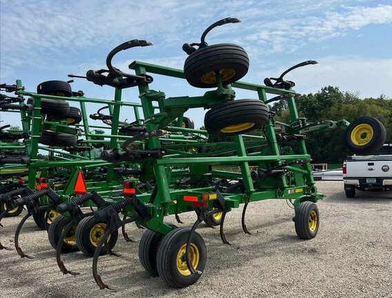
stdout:
<svg viewBox="0 0 392 298">
<path fill-rule="evenodd" d="M 295 81 L 297 92 L 336 86 L 360 98 L 392 99 L 392 1 L 0 0 L 0 11 L 0 83 L 21 79 L 30 91 L 43 81 L 68 81 L 67 74 L 106 68 L 108 52 L 131 39 L 146 39 L 154 46 L 119 53 L 117 68 L 126 72 L 130 62 L 139 60 L 182 69 L 187 57 L 183 43 L 198 42 L 211 23 L 235 17 L 242 22 L 215 28 L 206 41 L 245 48 L 251 66 L 242 81 L 262 83 L 312 59 L 319 63 L 286 77 Z M 150 88 L 167 97 L 206 91 L 160 76 L 154 76 Z M 83 79 L 75 79 L 72 89 L 84 90 L 86 97 L 114 95 L 113 88 Z M 123 96 L 138 102 L 136 88 Z M 237 92 L 237 99 L 252 96 Z M 204 113 L 196 109 L 186 116 L 200 127 Z M 9 114 L 0 112 L 0 126 L 19 125 Z M 133 115 L 124 109 L 121 118 L 131 121 Z"/>
</svg>

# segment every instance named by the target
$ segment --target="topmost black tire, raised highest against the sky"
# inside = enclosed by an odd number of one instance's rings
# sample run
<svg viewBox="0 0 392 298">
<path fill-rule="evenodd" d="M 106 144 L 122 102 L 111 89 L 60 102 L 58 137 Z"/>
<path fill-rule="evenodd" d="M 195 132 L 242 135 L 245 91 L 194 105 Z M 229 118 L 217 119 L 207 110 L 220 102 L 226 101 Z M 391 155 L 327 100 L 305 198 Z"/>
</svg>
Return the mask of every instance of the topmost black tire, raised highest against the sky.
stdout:
<svg viewBox="0 0 392 298">
<path fill-rule="evenodd" d="M 244 48 L 231 43 L 219 43 L 199 48 L 186 58 L 184 75 L 191 86 L 215 88 L 215 71 L 219 71 L 222 83 L 229 84 L 245 76 L 249 69 L 249 57 Z"/>
</svg>

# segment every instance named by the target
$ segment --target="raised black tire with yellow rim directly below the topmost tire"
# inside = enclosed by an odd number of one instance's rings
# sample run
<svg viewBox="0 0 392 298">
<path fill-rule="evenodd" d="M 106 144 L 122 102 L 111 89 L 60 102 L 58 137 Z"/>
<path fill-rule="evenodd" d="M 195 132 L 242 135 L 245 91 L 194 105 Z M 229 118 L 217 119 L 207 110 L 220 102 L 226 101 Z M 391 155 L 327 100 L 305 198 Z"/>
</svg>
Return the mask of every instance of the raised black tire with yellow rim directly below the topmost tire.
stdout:
<svg viewBox="0 0 392 298">
<path fill-rule="evenodd" d="M 238 99 L 214 106 L 204 117 L 210 135 L 228 137 L 257 130 L 268 121 L 265 103 L 258 99 Z"/>
</svg>

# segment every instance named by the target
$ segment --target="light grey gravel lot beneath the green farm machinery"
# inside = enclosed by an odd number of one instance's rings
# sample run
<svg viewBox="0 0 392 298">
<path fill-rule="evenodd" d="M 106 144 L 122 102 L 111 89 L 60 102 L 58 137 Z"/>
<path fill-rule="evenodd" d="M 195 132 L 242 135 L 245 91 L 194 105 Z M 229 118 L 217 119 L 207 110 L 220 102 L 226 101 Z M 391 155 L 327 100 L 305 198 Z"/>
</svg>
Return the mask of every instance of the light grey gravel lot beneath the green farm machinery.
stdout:
<svg viewBox="0 0 392 298">
<path fill-rule="evenodd" d="M 392 297 L 392 193 L 357 192 L 347 199 L 342 181 L 317 181 L 320 229 L 312 240 L 295 234 L 293 209 L 284 200 L 249 204 L 241 228 L 242 206 L 228 213 L 222 244 L 219 228 L 202 224 L 197 232 L 207 246 L 206 269 L 199 281 L 184 289 L 168 288 L 159 277 L 141 267 L 138 243 L 119 235 L 115 252 L 120 257 L 99 258 L 98 271 L 117 290 L 100 290 L 92 278 L 92 259 L 81 252 L 63 255 L 69 270 L 63 275 L 47 233 L 28 219 L 19 237 L 24 252 L 0 250 L 0 297 Z M 0 241 L 13 248 L 13 235 L 22 215 L 1 222 Z M 190 227 L 192 213 L 181 216 Z M 174 217 L 170 217 L 175 222 Z M 143 230 L 127 226 L 139 241 Z"/>
</svg>

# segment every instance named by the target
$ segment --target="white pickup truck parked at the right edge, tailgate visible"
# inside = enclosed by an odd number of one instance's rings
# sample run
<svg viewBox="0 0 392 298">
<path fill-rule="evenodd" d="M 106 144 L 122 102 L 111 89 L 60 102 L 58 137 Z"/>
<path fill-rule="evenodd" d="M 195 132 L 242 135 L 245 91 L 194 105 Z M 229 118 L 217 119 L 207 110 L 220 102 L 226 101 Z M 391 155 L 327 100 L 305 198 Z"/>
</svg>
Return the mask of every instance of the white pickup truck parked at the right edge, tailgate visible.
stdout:
<svg viewBox="0 0 392 298">
<path fill-rule="evenodd" d="M 373 155 L 353 155 L 343 163 L 346 197 L 355 190 L 392 190 L 392 143 L 384 144 Z"/>
</svg>

